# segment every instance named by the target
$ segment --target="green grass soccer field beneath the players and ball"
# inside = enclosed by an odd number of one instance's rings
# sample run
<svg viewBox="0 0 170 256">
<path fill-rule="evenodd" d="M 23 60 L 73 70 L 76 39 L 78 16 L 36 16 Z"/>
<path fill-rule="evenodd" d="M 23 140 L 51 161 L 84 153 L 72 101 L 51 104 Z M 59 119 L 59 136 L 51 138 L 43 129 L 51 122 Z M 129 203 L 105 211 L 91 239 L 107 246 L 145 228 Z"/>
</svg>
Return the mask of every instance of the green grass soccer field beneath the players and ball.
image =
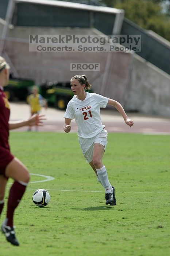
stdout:
<svg viewBox="0 0 170 256">
<path fill-rule="evenodd" d="M 14 219 L 20 246 L 0 234 L 0 256 L 170 255 L 170 136 L 108 134 L 103 163 L 116 189 L 112 207 L 76 134 L 11 132 L 10 143 L 30 173 L 55 179 L 28 185 Z M 31 175 L 31 182 L 44 179 Z M 39 188 L 51 196 L 44 208 L 32 202 Z"/>
</svg>

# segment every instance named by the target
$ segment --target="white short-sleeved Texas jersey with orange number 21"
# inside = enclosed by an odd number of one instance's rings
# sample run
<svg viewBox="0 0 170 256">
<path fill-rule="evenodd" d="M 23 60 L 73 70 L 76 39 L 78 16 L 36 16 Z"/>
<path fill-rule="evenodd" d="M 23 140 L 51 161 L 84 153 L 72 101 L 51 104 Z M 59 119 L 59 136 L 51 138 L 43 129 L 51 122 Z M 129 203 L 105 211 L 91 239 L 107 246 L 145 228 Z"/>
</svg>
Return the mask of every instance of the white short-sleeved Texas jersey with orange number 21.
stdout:
<svg viewBox="0 0 170 256">
<path fill-rule="evenodd" d="M 105 108 L 108 100 L 108 98 L 96 93 L 86 92 L 84 101 L 77 99 L 74 95 L 67 105 L 64 117 L 75 119 L 79 137 L 92 138 L 105 127 L 101 123 L 100 108 Z"/>
</svg>

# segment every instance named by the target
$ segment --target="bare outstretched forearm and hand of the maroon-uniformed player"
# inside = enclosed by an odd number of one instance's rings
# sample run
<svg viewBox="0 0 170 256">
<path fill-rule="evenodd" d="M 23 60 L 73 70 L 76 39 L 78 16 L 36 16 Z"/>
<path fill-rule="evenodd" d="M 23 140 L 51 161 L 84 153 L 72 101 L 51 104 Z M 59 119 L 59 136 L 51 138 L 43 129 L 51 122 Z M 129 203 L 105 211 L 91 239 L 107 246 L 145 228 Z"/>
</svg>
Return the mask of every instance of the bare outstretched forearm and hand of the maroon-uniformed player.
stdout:
<svg viewBox="0 0 170 256">
<path fill-rule="evenodd" d="M 46 120 L 44 115 L 35 114 L 27 120 L 22 121 L 9 121 L 9 130 L 20 128 L 23 126 L 38 125 L 43 126 L 43 120 Z"/>
</svg>

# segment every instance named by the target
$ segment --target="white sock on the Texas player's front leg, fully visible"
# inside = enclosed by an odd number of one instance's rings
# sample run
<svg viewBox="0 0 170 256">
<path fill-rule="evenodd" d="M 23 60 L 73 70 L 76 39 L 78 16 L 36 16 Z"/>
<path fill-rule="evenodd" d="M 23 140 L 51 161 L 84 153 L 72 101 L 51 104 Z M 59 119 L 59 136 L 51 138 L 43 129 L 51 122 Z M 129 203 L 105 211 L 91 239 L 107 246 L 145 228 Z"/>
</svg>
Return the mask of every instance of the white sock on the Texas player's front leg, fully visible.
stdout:
<svg viewBox="0 0 170 256">
<path fill-rule="evenodd" d="M 111 184 L 108 180 L 108 175 L 105 166 L 101 167 L 100 169 L 96 169 L 98 178 L 100 179 L 99 182 L 103 185 L 105 189 L 105 193 L 113 193 L 111 190 Z"/>
</svg>

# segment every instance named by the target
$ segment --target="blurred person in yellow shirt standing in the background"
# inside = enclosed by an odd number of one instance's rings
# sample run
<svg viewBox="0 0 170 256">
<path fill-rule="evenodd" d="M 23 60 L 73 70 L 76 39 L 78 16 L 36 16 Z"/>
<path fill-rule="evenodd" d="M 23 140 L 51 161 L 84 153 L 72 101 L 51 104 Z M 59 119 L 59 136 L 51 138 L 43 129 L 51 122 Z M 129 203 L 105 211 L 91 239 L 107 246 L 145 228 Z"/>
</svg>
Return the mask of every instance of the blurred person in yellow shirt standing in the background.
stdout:
<svg viewBox="0 0 170 256">
<path fill-rule="evenodd" d="M 27 97 L 27 102 L 30 105 L 31 116 L 34 114 L 39 114 L 42 106 L 47 109 L 47 101 L 38 93 L 38 87 L 36 86 L 32 88 L 32 94 Z M 31 131 L 31 126 L 29 127 L 28 131 Z M 36 131 L 38 131 L 38 126 L 36 126 Z"/>
</svg>

